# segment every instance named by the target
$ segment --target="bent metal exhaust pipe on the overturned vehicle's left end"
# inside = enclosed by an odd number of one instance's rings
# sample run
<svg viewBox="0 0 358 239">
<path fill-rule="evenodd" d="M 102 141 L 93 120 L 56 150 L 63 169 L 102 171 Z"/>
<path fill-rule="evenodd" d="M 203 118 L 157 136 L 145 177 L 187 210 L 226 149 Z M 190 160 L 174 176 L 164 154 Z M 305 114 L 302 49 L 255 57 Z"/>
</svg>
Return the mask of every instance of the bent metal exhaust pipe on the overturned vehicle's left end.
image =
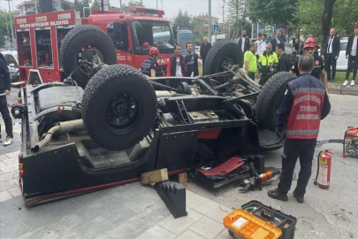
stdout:
<svg viewBox="0 0 358 239">
<path fill-rule="evenodd" d="M 85 125 L 83 124 L 83 120 L 71 120 L 71 121 L 65 121 L 61 122 L 56 127 L 51 127 L 50 130 L 46 133 L 45 138 L 40 142 L 34 145 L 34 152 L 38 152 L 45 146 L 47 143 L 50 142 L 52 135 L 54 134 L 65 134 L 70 133 L 72 131 L 85 129 Z"/>
</svg>

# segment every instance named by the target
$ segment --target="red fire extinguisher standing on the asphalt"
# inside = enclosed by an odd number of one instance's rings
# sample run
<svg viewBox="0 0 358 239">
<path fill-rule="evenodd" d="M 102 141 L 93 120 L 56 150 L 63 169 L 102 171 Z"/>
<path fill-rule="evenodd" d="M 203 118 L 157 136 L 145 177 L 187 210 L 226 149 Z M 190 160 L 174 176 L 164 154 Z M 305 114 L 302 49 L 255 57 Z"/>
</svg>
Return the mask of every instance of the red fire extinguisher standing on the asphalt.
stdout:
<svg viewBox="0 0 358 239">
<path fill-rule="evenodd" d="M 331 150 L 320 151 L 317 157 L 317 173 L 315 185 L 321 189 L 329 189 L 331 181 Z"/>
</svg>

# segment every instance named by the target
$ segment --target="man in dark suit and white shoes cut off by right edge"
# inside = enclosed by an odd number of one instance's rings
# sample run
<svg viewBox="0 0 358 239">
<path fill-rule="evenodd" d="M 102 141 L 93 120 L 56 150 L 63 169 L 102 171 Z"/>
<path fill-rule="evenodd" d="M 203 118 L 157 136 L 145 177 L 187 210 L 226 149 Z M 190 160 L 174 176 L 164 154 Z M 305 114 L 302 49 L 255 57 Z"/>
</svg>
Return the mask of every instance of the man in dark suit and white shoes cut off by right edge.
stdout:
<svg viewBox="0 0 358 239">
<path fill-rule="evenodd" d="M 354 23 L 354 35 L 349 36 L 346 58 L 348 58 L 348 66 L 346 72 L 346 81 L 343 83 L 343 86 L 347 86 L 349 74 L 353 69 L 353 79 L 351 81 L 351 86 L 354 86 L 355 77 L 357 76 L 358 71 L 358 22 Z"/>
</svg>

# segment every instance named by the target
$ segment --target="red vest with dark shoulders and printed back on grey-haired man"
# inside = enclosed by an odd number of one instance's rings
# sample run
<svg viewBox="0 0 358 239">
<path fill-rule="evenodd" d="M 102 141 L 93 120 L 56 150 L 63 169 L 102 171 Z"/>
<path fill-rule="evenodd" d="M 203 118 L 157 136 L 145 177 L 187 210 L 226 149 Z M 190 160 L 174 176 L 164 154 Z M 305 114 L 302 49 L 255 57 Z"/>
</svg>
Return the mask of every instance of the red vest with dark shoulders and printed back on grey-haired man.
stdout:
<svg viewBox="0 0 358 239">
<path fill-rule="evenodd" d="M 287 120 L 287 139 L 316 139 L 324 108 L 324 84 L 310 74 L 287 83 L 293 104 Z"/>
</svg>

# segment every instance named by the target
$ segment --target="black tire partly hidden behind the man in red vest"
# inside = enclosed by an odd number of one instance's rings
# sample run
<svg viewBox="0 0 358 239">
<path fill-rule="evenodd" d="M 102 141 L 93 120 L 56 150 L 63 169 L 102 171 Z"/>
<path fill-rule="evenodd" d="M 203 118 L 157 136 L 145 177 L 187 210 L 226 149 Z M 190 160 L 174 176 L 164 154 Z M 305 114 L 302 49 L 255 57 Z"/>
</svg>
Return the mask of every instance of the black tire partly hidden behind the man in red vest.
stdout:
<svg viewBox="0 0 358 239">
<path fill-rule="evenodd" d="M 276 73 L 263 85 L 255 106 L 256 118 L 261 126 L 275 131 L 278 106 L 286 91 L 287 83 L 295 78 L 296 76 L 291 73 Z"/>
</svg>

